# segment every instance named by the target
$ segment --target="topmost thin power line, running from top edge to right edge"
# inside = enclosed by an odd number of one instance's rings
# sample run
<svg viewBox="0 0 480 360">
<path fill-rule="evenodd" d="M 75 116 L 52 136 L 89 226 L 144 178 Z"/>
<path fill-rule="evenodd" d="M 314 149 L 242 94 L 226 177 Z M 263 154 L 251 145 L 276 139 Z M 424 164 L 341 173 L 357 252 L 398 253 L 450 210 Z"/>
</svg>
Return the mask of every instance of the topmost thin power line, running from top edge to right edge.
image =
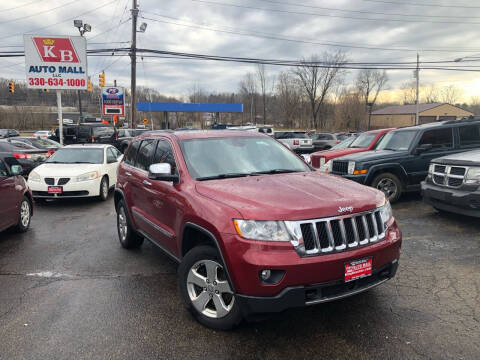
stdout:
<svg viewBox="0 0 480 360">
<path fill-rule="evenodd" d="M 210 4 L 210 5 L 220 5 L 220 6 L 230 6 L 241 9 L 250 9 L 250 10 L 261 10 L 261 11 L 271 11 L 284 14 L 295 14 L 295 15 L 308 15 L 308 16 L 320 16 L 320 17 L 329 17 L 329 18 L 341 18 L 341 19 L 350 19 L 350 20 L 361 20 L 361 21 L 385 21 L 385 22 L 401 22 L 401 23 L 429 23 L 429 24 L 480 24 L 480 22 L 474 21 L 433 21 L 433 20 L 409 20 L 409 19 L 381 19 L 381 18 L 366 18 L 366 17 L 354 17 L 354 16 L 342 16 L 342 15 L 331 15 L 331 14 L 319 14 L 319 13 L 310 13 L 304 11 L 293 11 L 293 10 L 281 10 L 281 9 L 272 9 L 272 8 L 259 8 L 256 6 L 249 5 L 238 5 L 231 3 L 223 3 L 217 1 L 208 1 L 208 0 L 191 0 L 198 3 Z"/>
</svg>

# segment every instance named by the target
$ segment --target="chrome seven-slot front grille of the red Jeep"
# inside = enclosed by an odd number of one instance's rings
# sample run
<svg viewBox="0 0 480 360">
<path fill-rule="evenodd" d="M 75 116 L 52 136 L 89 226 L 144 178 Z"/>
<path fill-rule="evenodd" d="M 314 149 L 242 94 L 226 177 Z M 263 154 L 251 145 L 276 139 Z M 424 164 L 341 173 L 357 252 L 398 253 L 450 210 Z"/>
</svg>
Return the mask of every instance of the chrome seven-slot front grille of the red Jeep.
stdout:
<svg viewBox="0 0 480 360">
<path fill-rule="evenodd" d="M 346 251 L 385 238 L 386 227 L 380 210 L 326 219 L 297 221 L 304 249 L 300 255 L 319 255 Z"/>
</svg>

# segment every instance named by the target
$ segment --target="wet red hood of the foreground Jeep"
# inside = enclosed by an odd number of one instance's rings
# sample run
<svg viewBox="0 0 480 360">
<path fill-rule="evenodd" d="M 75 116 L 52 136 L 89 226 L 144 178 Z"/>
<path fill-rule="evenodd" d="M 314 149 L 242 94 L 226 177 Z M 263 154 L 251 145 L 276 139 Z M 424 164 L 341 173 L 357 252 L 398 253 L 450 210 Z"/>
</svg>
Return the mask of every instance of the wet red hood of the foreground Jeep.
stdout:
<svg viewBox="0 0 480 360">
<path fill-rule="evenodd" d="M 323 218 L 340 215 L 340 207 L 360 212 L 385 203 L 380 191 L 317 171 L 202 181 L 196 190 L 250 220 Z"/>
</svg>

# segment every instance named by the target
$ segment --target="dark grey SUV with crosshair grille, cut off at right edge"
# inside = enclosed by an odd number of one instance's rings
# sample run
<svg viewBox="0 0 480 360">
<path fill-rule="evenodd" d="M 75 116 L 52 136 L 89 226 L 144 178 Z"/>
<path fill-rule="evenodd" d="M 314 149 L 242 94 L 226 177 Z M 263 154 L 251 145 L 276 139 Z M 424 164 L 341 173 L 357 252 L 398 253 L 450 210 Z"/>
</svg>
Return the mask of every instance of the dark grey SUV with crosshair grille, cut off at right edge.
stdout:
<svg viewBox="0 0 480 360">
<path fill-rule="evenodd" d="M 480 150 L 433 159 L 421 186 L 435 209 L 480 217 Z"/>
</svg>

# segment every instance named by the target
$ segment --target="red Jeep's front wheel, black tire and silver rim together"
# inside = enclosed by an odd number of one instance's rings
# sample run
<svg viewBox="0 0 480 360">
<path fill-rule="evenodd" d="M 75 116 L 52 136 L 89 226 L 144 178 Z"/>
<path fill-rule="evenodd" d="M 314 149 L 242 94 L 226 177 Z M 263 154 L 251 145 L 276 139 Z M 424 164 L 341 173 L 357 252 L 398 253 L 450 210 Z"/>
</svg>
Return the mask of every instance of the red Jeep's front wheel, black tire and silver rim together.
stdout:
<svg viewBox="0 0 480 360">
<path fill-rule="evenodd" d="M 186 307 L 201 324 L 228 330 L 242 320 L 240 306 L 215 248 L 202 245 L 190 250 L 178 268 L 178 281 Z"/>
</svg>

